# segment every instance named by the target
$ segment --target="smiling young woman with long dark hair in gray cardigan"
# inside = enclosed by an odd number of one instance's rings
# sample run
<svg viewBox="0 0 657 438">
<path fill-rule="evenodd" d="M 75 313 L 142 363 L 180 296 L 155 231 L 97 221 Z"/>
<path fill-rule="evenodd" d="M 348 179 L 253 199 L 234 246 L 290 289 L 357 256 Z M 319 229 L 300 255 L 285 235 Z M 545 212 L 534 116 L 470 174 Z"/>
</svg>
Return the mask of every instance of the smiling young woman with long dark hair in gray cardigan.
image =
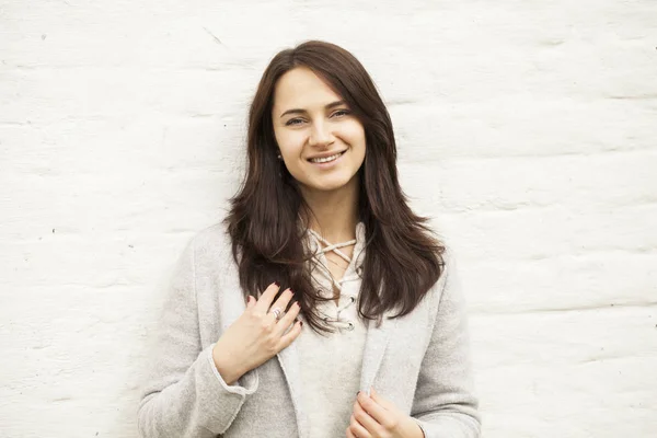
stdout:
<svg viewBox="0 0 657 438">
<path fill-rule="evenodd" d="M 400 187 L 390 116 L 347 50 L 277 54 L 247 173 L 173 275 L 142 437 L 479 437 L 452 261 Z"/>
</svg>

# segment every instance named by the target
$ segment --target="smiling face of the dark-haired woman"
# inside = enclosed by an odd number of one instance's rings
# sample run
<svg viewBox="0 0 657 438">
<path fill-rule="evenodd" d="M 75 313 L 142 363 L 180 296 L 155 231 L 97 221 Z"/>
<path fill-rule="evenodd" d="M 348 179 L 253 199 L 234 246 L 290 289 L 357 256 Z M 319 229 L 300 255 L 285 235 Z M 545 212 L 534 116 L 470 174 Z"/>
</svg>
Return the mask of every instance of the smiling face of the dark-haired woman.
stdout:
<svg viewBox="0 0 657 438">
<path fill-rule="evenodd" d="M 279 78 L 272 119 L 280 155 L 302 189 L 332 192 L 358 183 L 365 129 L 312 70 L 298 67 Z"/>
</svg>

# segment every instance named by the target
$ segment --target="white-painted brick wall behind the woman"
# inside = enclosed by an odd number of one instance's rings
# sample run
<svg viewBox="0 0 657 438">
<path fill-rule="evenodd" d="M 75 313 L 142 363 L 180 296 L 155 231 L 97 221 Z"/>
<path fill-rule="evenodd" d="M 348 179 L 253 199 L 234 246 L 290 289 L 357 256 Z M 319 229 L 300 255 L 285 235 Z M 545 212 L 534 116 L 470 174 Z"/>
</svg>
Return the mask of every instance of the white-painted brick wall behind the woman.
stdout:
<svg viewBox="0 0 657 438">
<path fill-rule="evenodd" d="M 486 437 L 657 436 L 657 3 L 0 0 L 0 436 L 136 437 L 158 285 L 275 51 L 390 104 L 457 247 Z"/>
</svg>

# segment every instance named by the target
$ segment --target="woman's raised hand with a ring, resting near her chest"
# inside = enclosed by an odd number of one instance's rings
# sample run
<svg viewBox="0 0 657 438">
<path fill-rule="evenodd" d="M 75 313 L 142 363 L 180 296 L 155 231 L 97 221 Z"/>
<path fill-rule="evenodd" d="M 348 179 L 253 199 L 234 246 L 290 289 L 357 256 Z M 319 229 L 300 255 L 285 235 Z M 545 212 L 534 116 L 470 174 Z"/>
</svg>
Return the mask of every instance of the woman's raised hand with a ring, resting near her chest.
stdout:
<svg viewBox="0 0 657 438">
<path fill-rule="evenodd" d="M 244 313 L 217 341 L 212 359 L 227 384 L 233 384 L 240 377 L 269 360 L 301 333 L 303 323 L 295 323 L 300 311 L 297 302 L 276 321 L 273 310 L 278 308 L 283 314 L 292 298 L 292 291 L 286 289 L 272 304 L 278 290 L 279 286 L 273 283 L 260 300 L 249 296 Z M 290 325 L 292 327 L 288 332 Z"/>
</svg>

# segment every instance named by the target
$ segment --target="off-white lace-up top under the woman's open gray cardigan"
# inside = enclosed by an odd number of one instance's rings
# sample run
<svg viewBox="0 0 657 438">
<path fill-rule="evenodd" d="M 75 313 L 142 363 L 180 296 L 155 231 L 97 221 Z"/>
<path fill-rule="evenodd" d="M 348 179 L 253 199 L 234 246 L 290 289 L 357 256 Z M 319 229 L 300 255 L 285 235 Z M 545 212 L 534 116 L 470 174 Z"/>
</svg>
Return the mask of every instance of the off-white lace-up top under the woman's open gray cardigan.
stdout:
<svg viewBox="0 0 657 438">
<path fill-rule="evenodd" d="M 304 403 L 309 413 L 310 436 L 334 438 L 345 436 L 356 393 L 359 390 L 362 349 L 367 325 L 358 318 L 360 266 L 364 258 L 365 224 L 356 226 L 356 240 L 331 244 L 309 230 L 307 243 L 315 254 L 312 258 L 312 281 L 322 296 L 333 297 L 333 285 L 341 291 L 339 300 L 318 303 L 324 321 L 337 328 L 321 335 L 302 330 L 298 345 Z M 324 243 L 326 247 L 322 247 Z M 339 247 L 354 244 L 353 257 Z M 349 262 L 342 279 L 331 276 L 325 253 L 333 251 Z"/>
</svg>

